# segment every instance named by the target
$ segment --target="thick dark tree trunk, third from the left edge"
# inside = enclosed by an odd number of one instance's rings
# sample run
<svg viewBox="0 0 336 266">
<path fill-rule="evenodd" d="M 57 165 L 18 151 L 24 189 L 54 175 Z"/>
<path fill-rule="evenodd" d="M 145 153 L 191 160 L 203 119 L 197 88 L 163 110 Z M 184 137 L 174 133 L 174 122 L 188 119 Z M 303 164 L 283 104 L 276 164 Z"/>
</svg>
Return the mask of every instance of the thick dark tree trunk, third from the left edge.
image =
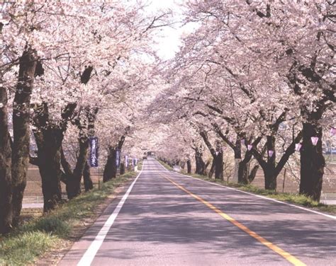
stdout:
<svg viewBox="0 0 336 266">
<path fill-rule="evenodd" d="M 38 145 L 38 163 L 42 178 L 43 212 L 50 212 L 62 200 L 60 185 L 62 129 L 44 129 L 35 133 L 35 140 Z"/>
</svg>

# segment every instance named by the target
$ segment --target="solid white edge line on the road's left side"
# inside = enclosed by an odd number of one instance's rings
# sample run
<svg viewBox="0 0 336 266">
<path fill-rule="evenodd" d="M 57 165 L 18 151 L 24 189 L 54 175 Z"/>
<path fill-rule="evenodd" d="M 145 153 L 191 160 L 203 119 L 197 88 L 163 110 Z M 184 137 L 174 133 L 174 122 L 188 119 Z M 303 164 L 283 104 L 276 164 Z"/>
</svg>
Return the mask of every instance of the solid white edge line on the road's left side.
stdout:
<svg viewBox="0 0 336 266">
<path fill-rule="evenodd" d="M 142 173 L 142 170 L 145 166 L 145 162 L 142 165 L 142 169 L 140 170 L 140 173 L 137 175 L 133 183 L 128 187 L 128 190 L 125 192 L 125 195 L 123 195 L 123 198 L 118 203 L 116 209 L 114 209 L 111 216 L 108 217 L 105 224 L 99 231 L 99 233 L 96 235 L 96 238 L 94 238 L 94 241 L 92 241 L 89 248 L 85 251 L 83 257 L 81 260 L 79 260 L 77 266 L 86 266 L 91 265 L 92 260 L 94 260 L 94 257 L 96 256 L 96 253 L 98 252 L 99 248 L 101 247 L 101 244 L 103 243 L 103 240 L 105 239 L 108 231 L 111 229 L 111 226 L 113 225 L 114 221 L 116 220 L 119 212 L 121 211 L 121 208 L 123 207 L 123 204 L 125 203 L 126 199 L 128 198 L 128 195 L 130 195 L 130 191 L 132 190 L 135 182 L 137 182 L 139 176 Z"/>
</svg>

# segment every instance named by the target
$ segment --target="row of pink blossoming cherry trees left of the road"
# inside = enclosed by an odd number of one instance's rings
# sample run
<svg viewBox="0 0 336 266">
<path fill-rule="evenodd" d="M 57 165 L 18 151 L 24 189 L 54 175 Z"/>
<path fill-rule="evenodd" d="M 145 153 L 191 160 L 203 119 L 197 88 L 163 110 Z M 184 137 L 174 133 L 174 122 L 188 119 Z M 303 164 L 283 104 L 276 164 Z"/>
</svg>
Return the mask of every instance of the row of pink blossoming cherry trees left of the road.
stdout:
<svg viewBox="0 0 336 266">
<path fill-rule="evenodd" d="M 106 161 L 103 180 L 116 177 L 113 158 L 135 130 L 139 93 L 155 76 L 155 30 L 169 13 L 149 15 L 141 1 L 0 8 L 0 233 L 7 233 L 19 222 L 30 163 L 40 170 L 44 212 L 61 202 L 61 181 L 69 199 L 81 192 L 83 175 L 91 189 L 91 136 Z M 74 163 L 64 143 L 77 143 Z"/>
</svg>

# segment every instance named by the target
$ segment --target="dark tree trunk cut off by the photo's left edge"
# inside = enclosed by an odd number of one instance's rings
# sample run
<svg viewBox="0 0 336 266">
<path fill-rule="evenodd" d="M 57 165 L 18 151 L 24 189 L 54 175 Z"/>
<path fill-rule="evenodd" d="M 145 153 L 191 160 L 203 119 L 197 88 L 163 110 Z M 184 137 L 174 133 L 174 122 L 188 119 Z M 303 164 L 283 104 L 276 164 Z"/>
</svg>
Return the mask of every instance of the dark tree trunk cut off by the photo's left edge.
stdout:
<svg viewBox="0 0 336 266">
<path fill-rule="evenodd" d="M 9 233 L 12 224 L 11 136 L 7 91 L 0 87 L 0 234 Z"/>
</svg>

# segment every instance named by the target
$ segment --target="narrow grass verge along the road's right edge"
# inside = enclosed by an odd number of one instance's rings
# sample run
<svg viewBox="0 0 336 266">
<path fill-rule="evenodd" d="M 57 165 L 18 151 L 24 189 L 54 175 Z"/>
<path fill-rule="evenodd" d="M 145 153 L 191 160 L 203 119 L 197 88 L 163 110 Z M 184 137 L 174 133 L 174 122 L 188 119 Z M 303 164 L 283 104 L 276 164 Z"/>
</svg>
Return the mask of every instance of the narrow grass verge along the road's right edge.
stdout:
<svg viewBox="0 0 336 266">
<path fill-rule="evenodd" d="M 162 164 L 165 168 L 168 170 L 172 170 L 170 166 L 167 167 L 166 163 L 163 163 L 162 161 L 159 161 L 159 163 Z M 265 197 L 270 197 L 272 199 L 278 199 L 283 202 L 289 202 L 293 204 L 297 204 L 303 207 L 308 207 L 311 209 L 316 209 L 321 212 L 328 212 L 330 214 L 336 214 L 336 205 L 326 205 L 322 204 L 319 202 L 315 202 L 313 199 L 310 197 L 306 197 L 304 195 L 298 195 L 298 194 L 293 194 L 293 193 L 282 193 L 282 192 L 275 192 L 274 190 L 264 190 L 262 188 L 256 187 L 254 185 L 241 185 L 241 184 L 236 184 L 236 183 L 227 183 L 224 180 L 215 180 L 215 179 L 210 179 L 206 175 L 196 175 L 196 174 L 186 174 L 192 176 L 193 178 L 198 178 L 201 180 L 206 180 L 211 183 L 217 183 L 220 185 L 225 185 L 227 187 L 235 187 L 237 190 L 242 190 L 246 192 L 252 192 L 257 195 L 262 195 Z"/>
</svg>

